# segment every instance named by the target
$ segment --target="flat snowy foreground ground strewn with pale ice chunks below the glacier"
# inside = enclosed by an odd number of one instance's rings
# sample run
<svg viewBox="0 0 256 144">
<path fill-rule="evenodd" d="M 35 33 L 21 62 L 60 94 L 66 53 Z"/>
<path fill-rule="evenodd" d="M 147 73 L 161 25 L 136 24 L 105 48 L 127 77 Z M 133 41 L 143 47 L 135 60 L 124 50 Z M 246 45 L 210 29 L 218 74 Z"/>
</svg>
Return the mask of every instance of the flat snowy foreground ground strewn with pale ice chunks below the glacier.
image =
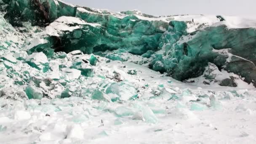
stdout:
<svg viewBox="0 0 256 144">
<path fill-rule="evenodd" d="M 198 87 L 128 62 L 102 62 L 97 67 L 119 72 L 128 83 L 138 87 L 139 99 L 108 103 L 80 97 L 52 100 L 0 98 L 0 143 L 256 142 L 254 88 Z M 137 69 L 137 75 L 126 74 L 129 69 Z M 148 87 L 144 86 L 146 84 Z M 162 93 L 152 97 L 153 90 Z"/>
</svg>

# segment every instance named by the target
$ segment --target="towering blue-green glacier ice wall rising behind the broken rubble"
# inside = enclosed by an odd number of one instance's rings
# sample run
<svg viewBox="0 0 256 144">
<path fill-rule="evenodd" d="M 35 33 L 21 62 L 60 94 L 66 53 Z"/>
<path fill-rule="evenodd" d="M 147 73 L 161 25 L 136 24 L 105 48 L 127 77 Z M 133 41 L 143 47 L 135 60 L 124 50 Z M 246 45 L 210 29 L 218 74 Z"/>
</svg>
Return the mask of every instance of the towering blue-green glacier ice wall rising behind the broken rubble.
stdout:
<svg viewBox="0 0 256 144">
<path fill-rule="evenodd" d="M 229 29 L 221 24 L 208 26 L 207 23 L 198 24 L 193 17 L 174 21 L 173 18 L 161 19 L 139 11 L 112 13 L 54 0 L 39 0 L 37 3 L 11 0 L 6 4 L 5 18 L 15 26 L 24 25 L 21 21 L 29 21 L 32 26 L 48 25 L 56 19 L 58 23 L 61 16 L 77 17 L 86 22 L 68 23 L 67 27 L 78 28 L 63 31 L 59 36 L 43 35 L 46 43 L 29 49 L 29 54 L 43 52 L 51 58 L 53 49 L 66 53 L 81 50 L 112 60 L 128 61 L 131 58 L 124 57 L 127 54 L 123 53 L 130 53 L 144 58 L 135 61 L 137 64 L 147 64 L 149 68 L 167 72 L 181 81 L 202 75 L 210 62 L 219 69 L 245 77 L 248 83 L 256 80 L 256 30 L 253 28 Z M 225 21 L 221 16 L 217 18 Z M 188 31 L 188 26 L 193 24 L 198 24 L 195 31 Z M 228 50 L 226 54 L 221 53 L 223 49 Z M 95 65 L 96 59 L 92 57 L 90 63 Z M 83 73 L 92 76 L 87 71 Z"/>
</svg>

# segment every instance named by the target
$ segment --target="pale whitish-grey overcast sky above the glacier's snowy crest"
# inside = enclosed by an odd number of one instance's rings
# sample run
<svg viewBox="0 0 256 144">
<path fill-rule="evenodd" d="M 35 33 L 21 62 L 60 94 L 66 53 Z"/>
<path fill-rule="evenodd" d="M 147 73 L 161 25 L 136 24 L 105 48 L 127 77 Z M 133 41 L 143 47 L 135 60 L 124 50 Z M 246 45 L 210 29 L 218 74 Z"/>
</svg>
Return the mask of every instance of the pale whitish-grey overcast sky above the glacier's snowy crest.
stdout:
<svg viewBox="0 0 256 144">
<path fill-rule="evenodd" d="M 152 15 L 208 14 L 256 19 L 256 0 L 62 0 L 110 11 L 139 10 Z"/>
</svg>

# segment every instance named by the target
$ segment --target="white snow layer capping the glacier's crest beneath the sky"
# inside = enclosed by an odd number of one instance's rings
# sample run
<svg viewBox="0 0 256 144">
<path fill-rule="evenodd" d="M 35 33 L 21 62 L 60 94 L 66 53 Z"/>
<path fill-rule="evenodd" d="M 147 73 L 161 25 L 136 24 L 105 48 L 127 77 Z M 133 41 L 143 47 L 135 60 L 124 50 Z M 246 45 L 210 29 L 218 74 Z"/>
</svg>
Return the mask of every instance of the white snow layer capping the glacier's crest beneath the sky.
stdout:
<svg viewBox="0 0 256 144">
<path fill-rule="evenodd" d="M 61 3 L 61 0 L 58 0 Z M 67 4 L 67 3 L 65 3 Z M 68 4 L 71 6 L 75 6 L 72 4 Z M 123 14 L 120 12 L 111 12 L 108 10 L 109 14 L 104 14 L 102 13 L 103 10 L 101 9 L 93 9 L 96 10 L 98 13 L 93 12 L 93 11 L 88 11 L 85 8 L 78 7 L 77 11 L 80 11 L 82 13 L 93 13 L 93 14 L 99 14 L 99 15 L 112 15 L 115 16 L 119 19 L 125 18 L 125 16 L 128 16 L 127 14 Z M 165 22 L 170 22 L 170 21 L 186 21 L 187 22 L 187 32 L 195 32 L 196 30 L 203 28 L 203 27 L 208 27 L 208 26 L 219 26 L 219 25 L 226 25 L 228 28 L 249 28 L 249 27 L 256 27 L 256 20 L 249 20 L 249 19 L 243 19 L 240 17 L 236 16 L 223 16 L 225 21 L 220 21 L 215 15 L 176 15 L 176 16 L 159 16 L 157 18 L 149 18 L 141 15 L 141 11 L 138 10 L 133 10 L 136 11 L 134 15 L 141 20 L 147 20 L 147 21 L 165 21 Z M 194 21 L 192 21 L 194 20 Z M 246 21 L 246 22 L 245 22 Z"/>
</svg>

